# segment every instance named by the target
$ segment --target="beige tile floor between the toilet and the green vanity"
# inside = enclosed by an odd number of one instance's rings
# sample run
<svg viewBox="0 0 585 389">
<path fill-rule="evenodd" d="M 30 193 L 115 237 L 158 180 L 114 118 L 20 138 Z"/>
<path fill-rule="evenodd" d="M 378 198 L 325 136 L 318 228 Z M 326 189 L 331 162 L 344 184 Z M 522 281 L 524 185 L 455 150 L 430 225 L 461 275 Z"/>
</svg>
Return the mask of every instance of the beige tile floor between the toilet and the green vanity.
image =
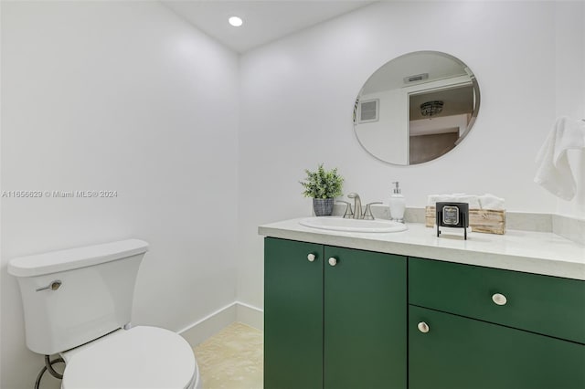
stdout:
<svg viewBox="0 0 585 389">
<path fill-rule="evenodd" d="M 203 389 L 262 389 L 262 331 L 235 322 L 194 351 Z"/>
</svg>

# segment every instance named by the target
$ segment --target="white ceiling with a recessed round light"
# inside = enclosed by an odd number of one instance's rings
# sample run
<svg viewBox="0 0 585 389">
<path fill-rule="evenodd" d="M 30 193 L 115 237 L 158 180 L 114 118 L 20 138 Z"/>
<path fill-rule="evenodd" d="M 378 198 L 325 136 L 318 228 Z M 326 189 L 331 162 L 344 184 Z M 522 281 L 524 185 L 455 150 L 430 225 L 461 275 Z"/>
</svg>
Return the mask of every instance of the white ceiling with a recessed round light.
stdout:
<svg viewBox="0 0 585 389">
<path fill-rule="evenodd" d="M 238 53 L 375 3 L 368 0 L 161 2 L 208 36 Z M 229 16 L 241 17 L 243 26 L 230 26 Z"/>
</svg>

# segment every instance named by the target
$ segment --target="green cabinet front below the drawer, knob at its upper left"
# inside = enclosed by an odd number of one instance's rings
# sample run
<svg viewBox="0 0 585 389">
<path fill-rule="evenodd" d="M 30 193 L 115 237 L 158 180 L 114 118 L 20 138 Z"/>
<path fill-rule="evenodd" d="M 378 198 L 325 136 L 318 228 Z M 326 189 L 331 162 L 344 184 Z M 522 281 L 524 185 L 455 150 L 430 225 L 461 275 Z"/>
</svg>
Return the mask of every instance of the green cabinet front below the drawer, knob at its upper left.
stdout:
<svg viewBox="0 0 585 389">
<path fill-rule="evenodd" d="M 412 305 L 409 312 L 410 389 L 585 388 L 582 344 Z"/>
</svg>

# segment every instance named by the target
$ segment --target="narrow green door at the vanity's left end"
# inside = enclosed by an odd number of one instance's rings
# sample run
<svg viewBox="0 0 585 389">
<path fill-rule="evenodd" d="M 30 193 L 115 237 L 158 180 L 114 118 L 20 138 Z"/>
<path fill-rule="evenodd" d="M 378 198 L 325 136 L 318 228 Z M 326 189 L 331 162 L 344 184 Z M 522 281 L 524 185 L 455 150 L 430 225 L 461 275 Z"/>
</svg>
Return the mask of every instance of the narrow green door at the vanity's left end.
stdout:
<svg viewBox="0 0 585 389">
<path fill-rule="evenodd" d="M 323 387 L 322 245 L 264 241 L 264 387 Z"/>
</svg>

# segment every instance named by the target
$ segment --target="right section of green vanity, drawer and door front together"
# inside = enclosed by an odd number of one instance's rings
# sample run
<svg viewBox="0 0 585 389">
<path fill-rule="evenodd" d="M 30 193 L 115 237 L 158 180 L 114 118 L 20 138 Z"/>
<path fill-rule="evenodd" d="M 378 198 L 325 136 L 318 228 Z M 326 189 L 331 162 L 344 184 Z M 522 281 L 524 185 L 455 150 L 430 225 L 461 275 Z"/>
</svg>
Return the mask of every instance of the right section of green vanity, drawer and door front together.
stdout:
<svg viewBox="0 0 585 389">
<path fill-rule="evenodd" d="M 410 389 L 582 389 L 585 282 L 409 258 Z"/>
</svg>

